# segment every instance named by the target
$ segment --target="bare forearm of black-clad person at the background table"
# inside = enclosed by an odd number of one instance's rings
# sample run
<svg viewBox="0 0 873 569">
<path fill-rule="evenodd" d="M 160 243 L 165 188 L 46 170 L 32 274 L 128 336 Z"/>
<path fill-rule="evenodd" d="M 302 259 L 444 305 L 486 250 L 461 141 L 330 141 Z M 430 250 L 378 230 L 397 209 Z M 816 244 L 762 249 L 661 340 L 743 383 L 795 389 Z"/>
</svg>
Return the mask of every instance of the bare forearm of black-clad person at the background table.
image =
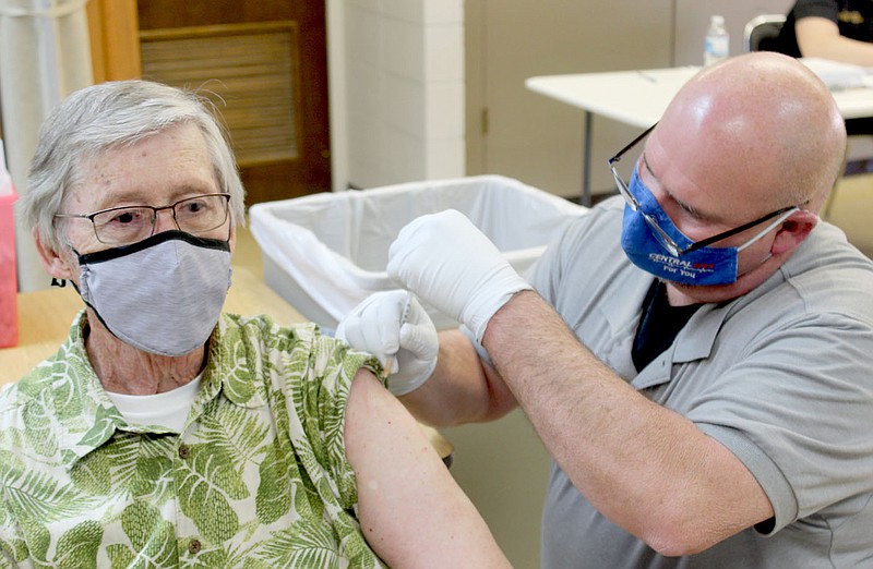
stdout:
<svg viewBox="0 0 873 569">
<path fill-rule="evenodd" d="M 841 36 L 837 24 L 826 17 L 800 19 L 794 24 L 794 31 L 804 58 L 823 58 L 873 68 L 873 44 Z"/>
</svg>

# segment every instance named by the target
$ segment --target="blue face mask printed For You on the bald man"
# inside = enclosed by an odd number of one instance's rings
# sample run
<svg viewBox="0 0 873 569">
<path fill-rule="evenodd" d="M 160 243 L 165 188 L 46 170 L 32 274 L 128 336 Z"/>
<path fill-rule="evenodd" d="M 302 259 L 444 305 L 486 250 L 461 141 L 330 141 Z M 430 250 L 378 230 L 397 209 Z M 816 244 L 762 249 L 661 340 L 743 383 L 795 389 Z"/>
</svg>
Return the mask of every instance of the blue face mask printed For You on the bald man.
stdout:
<svg viewBox="0 0 873 569">
<path fill-rule="evenodd" d="M 736 282 L 739 252 L 767 234 L 798 209 L 794 207 L 786 210 L 761 233 L 739 247 L 703 246 L 674 255 L 655 235 L 655 230 L 646 222 L 644 213 L 655 220 L 663 233 L 678 245 L 679 251 L 692 246 L 694 241 L 673 225 L 648 187 L 639 180 L 636 168 L 627 190 L 639 203 L 639 208 L 635 210 L 630 204 L 624 207 L 621 233 L 624 253 L 643 270 L 680 284 L 711 287 Z"/>
</svg>

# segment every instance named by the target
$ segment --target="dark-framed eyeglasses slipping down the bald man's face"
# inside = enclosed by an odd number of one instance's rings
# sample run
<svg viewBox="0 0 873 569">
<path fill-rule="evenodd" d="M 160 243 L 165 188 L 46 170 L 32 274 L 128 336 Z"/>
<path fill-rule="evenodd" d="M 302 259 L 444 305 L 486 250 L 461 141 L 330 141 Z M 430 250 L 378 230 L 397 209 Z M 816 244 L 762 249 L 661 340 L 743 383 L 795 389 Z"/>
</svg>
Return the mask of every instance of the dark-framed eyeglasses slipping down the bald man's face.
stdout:
<svg viewBox="0 0 873 569">
<path fill-rule="evenodd" d="M 776 211 L 770 211 L 769 214 L 767 214 L 767 215 L 765 215 L 763 217 L 760 217 L 760 218 L 755 219 L 754 221 L 750 221 L 748 223 L 743 223 L 740 227 L 736 227 L 733 229 L 729 229 L 729 230 L 723 231 L 721 233 L 715 234 L 715 235 L 713 235 L 710 238 L 706 238 L 706 239 L 704 239 L 702 241 L 695 241 L 694 243 L 692 243 L 691 245 L 689 245 L 689 246 L 686 246 L 684 249 L 680 247 L 679 244 L 677 244 L 677 242 L 673 241 L 673 239 L 669 234 L 667 234 L 667 232 L 663 229 L 660 228 L 660 226 L 658 225 L 657 219 L 655 219 L 654 216 L 647 214 L 646 211 L 643 211 L 643 209 L 642 209 L 642 207 L 639 205 L 639 202 L 637 202 L 637 199 L 633 196 L 633 194 L 631 194 L 631 191 L 627 187 L 627 183 L 625 183 L 625 181 L 622 180 L 621 174 L 619 174 L 618 170 L 615 170 L 615 165 L 621 160 L 621 157 L 624 156 L 631 148 L 636 146 L 639 143 L 639 141 L 642 141 L 643 138 L 648 136 L 648 134 L 657 125 L 658 125 L 658 123 L 656 122 L 655 124 L 653 124 L 651 126 L 646 129 L 646 131 L 643 134 L 641 134 L 639 136 L 637 136 L 633 141 L 631 141 L 631 144 L 629 144 L 627 146 L 625 146 L 624 148 L 619 150 L 619 153 L 615 156 L 610 158 L 609 159 L 609 169 L 612 170 L 612 178 L 615 179 L 615 185 L 619 189 L 619 193 L 622 195 L 622 197 L 624 197 L 624 201 L 627 203 L 627 205 L 631 207 L 631 209 L 633 209 L 634 211 L 638 211 L 639 215 L 643 216 L 643 219 L 646 221 L 648 227 L 651 229 L 651 232 L 655 235 L 655 239 L 657 239 L 658 242 L 661 245 L 663 245 L 663 247 L 667 251 L 669 251 L 671 255 L 678 257 L 678 256 L 684 255 L 686 253 L 691 253 L 692 251 L 696 251 L 698 249 L 711 245 L 713 243 L 717 243 L 719 241 L 728 239 L 729 237 L 736 235 L 738 233 L 742 233 L 746 229 L 751 229 L 751 228 L 753 228 L 755 226 L 758 226 L 758 225 L 763 223 L 764 221 L 768 221 L 768 220 L 770 220 L 770 219 L 773 219 L 775 217 L 778 217 L 778 219 L 776 219 L 773 223 L 767 226 L 761 233 L 758 233 L 754 238 L 750 239 L 744 245 L 738 247 L 738 249 L 742 250 L 745 246 L 749 246 L 750 244 L 752 244 L 755 241 L 757 241 L 758 239 L 761 239 L 768 231 L 770 231 L 776 226 L 778 226 L 779 223 L 785 221 L 791 214 L 793 214 L 794 211 L 800 209 L 799 206 L 782 207 L 780 209 L 777 209 Z"/>
</svg>

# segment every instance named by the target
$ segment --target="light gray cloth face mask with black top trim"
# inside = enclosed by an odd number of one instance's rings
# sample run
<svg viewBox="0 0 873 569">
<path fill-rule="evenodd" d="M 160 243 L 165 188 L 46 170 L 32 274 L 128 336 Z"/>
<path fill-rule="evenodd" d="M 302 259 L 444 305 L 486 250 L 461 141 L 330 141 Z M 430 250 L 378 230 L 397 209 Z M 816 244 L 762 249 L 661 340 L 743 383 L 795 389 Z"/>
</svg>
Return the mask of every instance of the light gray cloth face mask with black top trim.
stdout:
<svg viewBox="0 0 873 569">
<path fill-rule="evenodd" d="M 124 343 L 178 356 L 210 338 L 230 288 L 229 241 L 164 231 L 132 245 L 75 253 L 80 295 Z"/>
</svg>

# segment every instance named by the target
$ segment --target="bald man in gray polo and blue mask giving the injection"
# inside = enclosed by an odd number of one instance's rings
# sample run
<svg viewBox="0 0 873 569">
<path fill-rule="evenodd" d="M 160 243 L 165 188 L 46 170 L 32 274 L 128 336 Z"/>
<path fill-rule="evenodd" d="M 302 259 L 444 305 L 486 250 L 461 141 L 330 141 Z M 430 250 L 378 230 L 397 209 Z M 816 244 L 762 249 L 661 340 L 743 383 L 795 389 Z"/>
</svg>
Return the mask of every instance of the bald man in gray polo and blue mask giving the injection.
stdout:
<svg viewBox="0 0 873 569">
<path fill-rule="evenodd" d="M 630 179 L 629 148 L 610 160 L 621 195 L 533 290 L 456 211 L 402 231 L 388 273 L 466 328 L 439 356 L 393 292 L 340 334 L 396 358 L 423 421 L 522 407 L 554 459 L 545 568 L 873 562 L 873 263 L 818 218 L 846 145 L 830 94 L 791 58 L 741 56 L 632 145 Z"/>
</svg>

